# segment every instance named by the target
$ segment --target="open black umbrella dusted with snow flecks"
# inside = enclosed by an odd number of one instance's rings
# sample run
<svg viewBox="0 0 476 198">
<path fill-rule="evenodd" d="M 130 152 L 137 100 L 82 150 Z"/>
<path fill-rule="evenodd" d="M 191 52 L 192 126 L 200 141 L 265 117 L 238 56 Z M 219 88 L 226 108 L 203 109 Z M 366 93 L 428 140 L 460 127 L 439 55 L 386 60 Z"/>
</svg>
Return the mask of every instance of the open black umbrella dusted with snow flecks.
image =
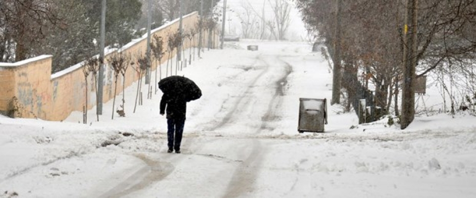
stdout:
<svg viewBox="0 0 476 198">
<path fill-rule="evenodd" d="M 191 101 L 202 97 L 202 90 L 183 76 L 169 76 L 159 81 L 159 89 L 171 98 Z"/>
</svg>

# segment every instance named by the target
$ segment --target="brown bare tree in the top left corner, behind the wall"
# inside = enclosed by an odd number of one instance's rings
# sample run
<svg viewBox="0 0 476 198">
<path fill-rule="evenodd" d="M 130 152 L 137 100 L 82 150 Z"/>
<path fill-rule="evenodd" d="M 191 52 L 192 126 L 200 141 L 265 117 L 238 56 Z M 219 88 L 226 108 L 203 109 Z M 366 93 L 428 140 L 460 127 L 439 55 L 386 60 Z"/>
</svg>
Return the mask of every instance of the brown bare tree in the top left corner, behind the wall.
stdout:
<svg viewBox="0 0 476 198">
<path fill-rule="evenodd" d="M 47 38 L 45 30 L 61 27 L 53 0 L 2 0 L 0 3 L 0 61 L 29 58 L 31 46 Z"/>
</svg>

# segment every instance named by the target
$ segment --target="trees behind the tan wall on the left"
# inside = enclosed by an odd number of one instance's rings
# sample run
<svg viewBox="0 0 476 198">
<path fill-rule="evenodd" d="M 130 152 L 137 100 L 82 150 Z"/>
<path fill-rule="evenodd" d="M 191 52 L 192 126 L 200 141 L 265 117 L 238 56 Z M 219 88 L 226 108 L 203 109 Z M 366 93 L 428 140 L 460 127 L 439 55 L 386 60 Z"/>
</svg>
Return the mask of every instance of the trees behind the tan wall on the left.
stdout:
<svg viewBox="0 0 476 198">
<path fill-rule="evenodd" d="M 119 48 L 146 33 L 147 1 L 106 1 L 106 46 Z M 184 14 L 200 9 L 200 0 L 182 1 Z M 204 14 L 215 1 L 204 0 Z M 151 2 L 152 28 L 179 16 L 179 0 Z M 53 73 L 68 68 L 99 53 L 100 20 L 101 0 L 1 0 L 0 62 L 52 54 Z"/>
</svg>

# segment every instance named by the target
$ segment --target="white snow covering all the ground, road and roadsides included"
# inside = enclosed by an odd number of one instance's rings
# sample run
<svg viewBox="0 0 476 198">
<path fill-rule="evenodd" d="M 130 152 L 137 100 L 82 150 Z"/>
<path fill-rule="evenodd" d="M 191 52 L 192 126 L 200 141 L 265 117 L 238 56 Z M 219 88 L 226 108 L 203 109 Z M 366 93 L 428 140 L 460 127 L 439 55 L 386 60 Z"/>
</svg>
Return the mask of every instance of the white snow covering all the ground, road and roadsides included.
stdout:
<svg viewBox="0 0 476 198">
<path fill-rule="evenodd" d="M 99 122 L 90 110 L 88 124 L 81 112 L 63 122 L 0 117 L 0 198 L 476 196 L 474 116 L 417 117 L 399 130 L 358 125 L 329 105 L 325 133 L 299 134 L 299 98 L 331 96 L 328 63 L 310 49 L 206 49 L 179 72 L 203 92 L 188 103 L 181 154 L 166 153 L 160 91 L 133 113 L 137 85 L 126 117 L 111 120 L 112 102 Z"/>
</svg>

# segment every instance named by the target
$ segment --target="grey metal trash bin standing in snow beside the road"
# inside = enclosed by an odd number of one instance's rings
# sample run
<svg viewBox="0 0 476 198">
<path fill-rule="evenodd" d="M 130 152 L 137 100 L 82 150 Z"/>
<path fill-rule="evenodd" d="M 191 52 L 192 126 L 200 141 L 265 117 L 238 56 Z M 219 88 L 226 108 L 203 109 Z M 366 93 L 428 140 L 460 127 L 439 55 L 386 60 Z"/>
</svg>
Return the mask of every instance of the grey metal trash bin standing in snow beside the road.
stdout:
<svg viewBox="0 0 476 198">
<path fill-rule="evenodd" d="M 327 124 L 326 99 L 299 99 L 299 133 L 324 132 Z"/>
</svg>

